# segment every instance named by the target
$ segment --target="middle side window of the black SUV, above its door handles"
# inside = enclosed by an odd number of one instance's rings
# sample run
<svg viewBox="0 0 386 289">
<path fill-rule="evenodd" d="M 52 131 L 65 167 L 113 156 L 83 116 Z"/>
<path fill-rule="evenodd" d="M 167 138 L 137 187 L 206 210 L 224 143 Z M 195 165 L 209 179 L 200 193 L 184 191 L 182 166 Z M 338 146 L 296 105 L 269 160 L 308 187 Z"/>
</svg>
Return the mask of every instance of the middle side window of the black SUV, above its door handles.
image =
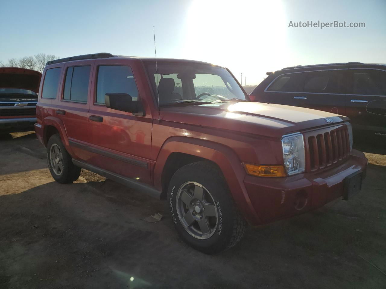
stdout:
<svg viewBox="0 0 386 289">
<path fill-rule="evenodd" d="M 345 70 L 306 72 L 303 92 L 345 93 Z"/>
</svg>

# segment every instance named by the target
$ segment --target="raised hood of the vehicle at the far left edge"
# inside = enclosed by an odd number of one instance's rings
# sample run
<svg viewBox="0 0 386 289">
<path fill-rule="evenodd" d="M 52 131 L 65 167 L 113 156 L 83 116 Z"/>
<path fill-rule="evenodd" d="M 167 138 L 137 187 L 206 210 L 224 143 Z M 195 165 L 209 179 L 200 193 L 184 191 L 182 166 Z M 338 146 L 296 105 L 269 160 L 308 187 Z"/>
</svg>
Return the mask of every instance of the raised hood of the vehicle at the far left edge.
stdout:
<svg viewBox="0 0 386 289">
<path fill-rule="evenodd" d="M 0 67 L 0 88 L 20 88 L 38 93 L 41 77 L 40 72 L 30 69 Z"/>
</svg>

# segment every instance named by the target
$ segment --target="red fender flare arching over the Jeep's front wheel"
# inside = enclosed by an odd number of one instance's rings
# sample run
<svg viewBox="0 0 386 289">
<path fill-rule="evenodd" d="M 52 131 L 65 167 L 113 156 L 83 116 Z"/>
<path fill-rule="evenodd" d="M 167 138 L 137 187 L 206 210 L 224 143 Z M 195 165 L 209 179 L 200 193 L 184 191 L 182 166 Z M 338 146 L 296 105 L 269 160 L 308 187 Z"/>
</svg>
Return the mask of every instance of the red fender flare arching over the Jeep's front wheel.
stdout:
<svg viewBox="0 0 386 289">
<path fill-rule="evenodd" d="M 185 153 L 213 161 L 227 180 L 232 198 L 249 223 L 260 220 L 244 185 L 245 170 L 236 153 L 229 147 L 203 139 L 182 136 L 171 137 L 161 147 L 154 166 L 154 185 L 161 189 L 161 175 L 171 153 Z"/>
</svg>

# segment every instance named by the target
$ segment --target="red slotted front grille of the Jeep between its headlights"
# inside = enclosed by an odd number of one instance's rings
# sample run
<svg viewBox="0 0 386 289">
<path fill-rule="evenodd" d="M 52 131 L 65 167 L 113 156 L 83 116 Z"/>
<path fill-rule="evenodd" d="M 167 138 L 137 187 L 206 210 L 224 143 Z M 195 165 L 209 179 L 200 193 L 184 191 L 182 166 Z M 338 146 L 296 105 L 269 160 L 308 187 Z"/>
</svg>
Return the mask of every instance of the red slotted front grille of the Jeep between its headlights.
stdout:
<svg viewBox="0 0 386 289">
<path fill-rule="evenodd" d="M 334 166 L 350 155 L 346 125 L 306 133 L 306 171 L 314 172 Z"/>
</svg>

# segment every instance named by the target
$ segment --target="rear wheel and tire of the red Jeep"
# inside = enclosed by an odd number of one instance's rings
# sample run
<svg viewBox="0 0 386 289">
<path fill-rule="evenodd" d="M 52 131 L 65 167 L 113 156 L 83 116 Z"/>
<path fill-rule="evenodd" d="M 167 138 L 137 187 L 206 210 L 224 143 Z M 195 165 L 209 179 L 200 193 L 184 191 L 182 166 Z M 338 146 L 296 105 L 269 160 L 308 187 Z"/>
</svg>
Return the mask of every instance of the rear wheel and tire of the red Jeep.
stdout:
<svg viewBox="0 0 386 289">
<path fill-rule="evenodd" d="M 64 147 L 59 134 L 54 134 L 47 143 L 47 162 L 52 178 L 58 183 L 66 184 L 78 180 L 80 170 Z"/>
</svg>

